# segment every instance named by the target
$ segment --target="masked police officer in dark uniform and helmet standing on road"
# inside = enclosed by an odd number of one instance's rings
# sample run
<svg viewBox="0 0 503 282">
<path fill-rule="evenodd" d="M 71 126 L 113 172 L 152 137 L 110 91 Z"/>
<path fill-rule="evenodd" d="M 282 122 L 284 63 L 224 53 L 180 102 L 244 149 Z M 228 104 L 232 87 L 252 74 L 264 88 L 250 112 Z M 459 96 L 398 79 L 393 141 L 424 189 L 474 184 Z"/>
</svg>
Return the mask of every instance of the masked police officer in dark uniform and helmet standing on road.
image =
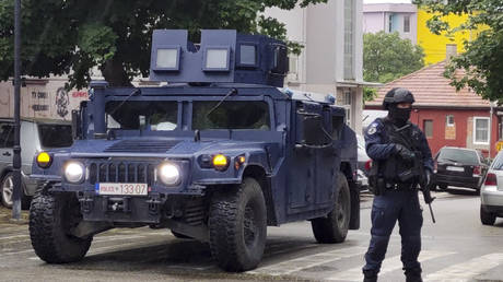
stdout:
<svg viewBox="0 0 503 282">
<path fill-rule="evenodd" d="M 374 120 L 365 132 L 366 153 L 373 160 L 371 185 L 372 238 L 365 254 L 364 281 L 377 281 L 391 231 L 398 221 L 401 236 L 401 261 L 407 282 L 422 281 L 421 251 L 422 209 L 418 197 L 419 176 L 411 173 L 420 157 L 422 179 L 430 181 L 433 160 L 423 132 L 409 121 L 414 97 L 406 89 L 393 89 L 383 101 L 385 118 Z M 416 152 L 416 153 L 414 153 Z M 373 175 L 372 175 L 373 174 Z"/>
</svg>

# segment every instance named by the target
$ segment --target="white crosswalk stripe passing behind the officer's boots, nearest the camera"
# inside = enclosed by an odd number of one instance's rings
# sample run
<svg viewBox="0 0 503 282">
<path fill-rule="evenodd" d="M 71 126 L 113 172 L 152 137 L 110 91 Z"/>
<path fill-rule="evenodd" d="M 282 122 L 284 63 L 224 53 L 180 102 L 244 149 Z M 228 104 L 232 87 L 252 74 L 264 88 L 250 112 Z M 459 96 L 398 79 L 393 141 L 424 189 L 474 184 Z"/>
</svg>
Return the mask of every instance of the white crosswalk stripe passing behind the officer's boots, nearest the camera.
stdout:
<svg viewBox="0 0 503 282">
<path fill-rule="evenodd" d="M 425 260 L 430 260 L 430 259 L 434 259 L 434 258 L 438 258 L 438 257 L 449 256 L 449 255 L 453 255 L 453 254 L 455 254 L 455 252 L 423 250 L 419 255 L 419 260 L 420 261 L 425 261 Z M 347 271 L 342 271 L 342 272 L 339 272 L 339 273 L 336 273 L 336 274 L 334 274 L 334 275 L 331 275 L 329 278 L 326 278 L 325 280 L 362 281 L 362 279 L 363 279 L 362 267 L 363 266 L 358 267 L 358 268 L 352 268 L 352 269 L 349 269 Z M 399 270 L 401 268 L 402 268 L 402 263 L 401 263 L 399 255 L 395 256 L 395 257 L 386 258 L 383 261 L 383 266 L 381 268 L 379 275 L 389 273 L 389 272 L 395 271 L 395 270 Z"/>
</svg>

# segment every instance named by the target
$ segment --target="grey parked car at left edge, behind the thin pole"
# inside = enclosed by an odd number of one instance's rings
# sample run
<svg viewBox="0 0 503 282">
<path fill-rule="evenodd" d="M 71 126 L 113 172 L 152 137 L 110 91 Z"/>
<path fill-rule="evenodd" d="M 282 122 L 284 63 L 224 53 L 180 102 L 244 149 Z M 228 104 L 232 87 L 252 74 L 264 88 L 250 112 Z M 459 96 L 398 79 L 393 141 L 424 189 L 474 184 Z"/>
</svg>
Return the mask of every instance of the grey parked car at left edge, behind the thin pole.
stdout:
<svg viewBox="0 0 503 282">
<path fill-rule="evenodd" d="M 61 120 L 22 120 L 20 130 L 22 208 L 30 207 L 31 197 L 37 188 L 30 179 L 33 156 L 50 148 L 65 148 L 73 143 L 71 125 Z M 12 157 L 14 145 L 14 120 L 0 118 L 0 200 L 4 207 L 12 207 L 14 176 Z"/>
</svg>

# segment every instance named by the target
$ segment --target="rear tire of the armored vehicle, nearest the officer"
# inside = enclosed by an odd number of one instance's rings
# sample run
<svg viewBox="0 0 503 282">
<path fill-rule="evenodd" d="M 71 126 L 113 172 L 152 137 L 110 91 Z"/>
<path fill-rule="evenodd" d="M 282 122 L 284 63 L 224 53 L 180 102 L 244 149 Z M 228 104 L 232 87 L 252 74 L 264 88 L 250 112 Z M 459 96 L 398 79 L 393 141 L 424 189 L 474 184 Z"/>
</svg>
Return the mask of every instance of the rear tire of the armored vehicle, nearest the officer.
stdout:
<svg viewBox="0 0 503 282">
<path fill-rule="evenodd" d="M 351 219 L 351 196 L 344 174 L 338 175 L 338 196 L 334 210 L 324 218 L 311 221 L 314 236 L 318 243 L 342 243 L 348 235 Z"/>
</svg>

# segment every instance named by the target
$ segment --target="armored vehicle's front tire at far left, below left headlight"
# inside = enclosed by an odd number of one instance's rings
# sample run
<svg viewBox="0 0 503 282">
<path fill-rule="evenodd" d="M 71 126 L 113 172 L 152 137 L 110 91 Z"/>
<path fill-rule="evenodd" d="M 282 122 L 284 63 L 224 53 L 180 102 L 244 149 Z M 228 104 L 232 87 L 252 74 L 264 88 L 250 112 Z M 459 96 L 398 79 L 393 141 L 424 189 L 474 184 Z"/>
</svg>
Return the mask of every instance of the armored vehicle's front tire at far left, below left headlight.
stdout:
<svg viewBox="0 0 503 282">
<path fill-rule="evenodd" d="M 48 263 L 81 260 L 93 237 L 78 238 L 69 234 L 82 221 L 80 204 L 73 195 L 50 195 L 37 191 L 30 209 L 30 237 L 35 254 Z"/>
</svg>

